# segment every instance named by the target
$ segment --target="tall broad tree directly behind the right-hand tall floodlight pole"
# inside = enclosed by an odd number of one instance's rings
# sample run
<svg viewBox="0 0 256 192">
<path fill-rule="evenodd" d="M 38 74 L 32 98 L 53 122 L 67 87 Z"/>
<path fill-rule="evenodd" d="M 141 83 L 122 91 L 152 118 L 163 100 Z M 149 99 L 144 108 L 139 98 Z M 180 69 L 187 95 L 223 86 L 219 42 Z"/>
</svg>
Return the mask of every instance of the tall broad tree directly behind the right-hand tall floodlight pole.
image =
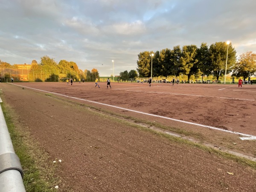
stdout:
<svg viewBox="0 0 256 192">
<path fill-rule="evenodd" d="M 228 46 L 228 57 L 227 57 Z M 226 61 L 227 61 L 227 74 L 233 70 L 234 64 L 236 64 L 236 50 L 232 47 L 232 44 L 226 44 L 226 42 L 216 42 L 211 44 L 209 48 L 209 60 L 212 67 L 212 73 L 217 77 L 225 75 Z"/>
</svg>

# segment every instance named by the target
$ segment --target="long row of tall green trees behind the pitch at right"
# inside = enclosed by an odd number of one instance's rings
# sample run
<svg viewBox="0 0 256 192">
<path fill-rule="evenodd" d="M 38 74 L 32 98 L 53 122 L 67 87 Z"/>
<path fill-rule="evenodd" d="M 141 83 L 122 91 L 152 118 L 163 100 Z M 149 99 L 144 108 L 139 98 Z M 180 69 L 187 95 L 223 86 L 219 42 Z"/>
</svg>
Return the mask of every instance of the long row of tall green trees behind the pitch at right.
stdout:
<svg viewBox="0 0 256 192">
<path fill-rule="evenodd" d="M 152 53 L 154 56 L 151 56 Z M 249 51 L 241 54 L 237 60 L 235 48 L 226 42 L 216 42 L 209 48 L 206 43 L 202 43 L 199 48 L 196 45 L 180 48 L 178 45 L 173 49 L 140 52 L 137 60 L 140 77 L 151 76 L 151 59 L 153 77 L 186 75 L 189 81 L 191 76 L 203 79 L 203 76 L 212 75 L 218 80 L 225 73 L 232 72 L 232 76 L 245 80 L 256 73 L 256 54 Z"/>
</svg>

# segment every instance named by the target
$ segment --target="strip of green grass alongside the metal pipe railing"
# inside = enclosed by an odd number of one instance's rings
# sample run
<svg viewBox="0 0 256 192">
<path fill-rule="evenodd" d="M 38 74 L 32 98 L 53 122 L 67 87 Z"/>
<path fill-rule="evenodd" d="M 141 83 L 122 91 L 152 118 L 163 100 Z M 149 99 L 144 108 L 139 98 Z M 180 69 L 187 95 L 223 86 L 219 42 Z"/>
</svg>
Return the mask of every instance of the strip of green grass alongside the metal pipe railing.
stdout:
<svg viewBox="0 0 256 192">
<path fill-rule="evenodd" d="M 23 168 L 23 183 L 26 192 L 55 192 L 58 189 L 54 187 L 58 183 L 58 177 L 55 177 L 57 163 L 49 163 L 47 154 L 40 151 L 38 144 L 31 138 L 29 133 L 20 131 L 15 127 L 14 120 L 10 114 L 8 106 L 1 103 L 6 125 L 9 129 L 12 144 L 15 153 L 20 158 Z M 48 162 L 48 163 L 47 163 Z M 47 164 L 50 164 L 47 166 Z"/>
</svg>

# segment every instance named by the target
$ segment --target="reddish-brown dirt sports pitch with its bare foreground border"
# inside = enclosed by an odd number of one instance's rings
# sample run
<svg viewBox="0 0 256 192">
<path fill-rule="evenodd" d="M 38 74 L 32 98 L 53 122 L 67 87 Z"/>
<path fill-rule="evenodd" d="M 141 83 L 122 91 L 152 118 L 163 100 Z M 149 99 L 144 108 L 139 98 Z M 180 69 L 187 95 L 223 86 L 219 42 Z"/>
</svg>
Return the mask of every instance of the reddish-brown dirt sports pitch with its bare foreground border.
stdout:
<svg viewBox="0 0 256 192">
<path fill-rule="evenodd" d="M 256 140 L 240 137 L 256 136 L 256 85 L 99 84 L 0 84 L 20 124 L 63 160 L 62 190 L 256 191 L 255 170 L 147 131 L 255 160 Z"/>
</svg>

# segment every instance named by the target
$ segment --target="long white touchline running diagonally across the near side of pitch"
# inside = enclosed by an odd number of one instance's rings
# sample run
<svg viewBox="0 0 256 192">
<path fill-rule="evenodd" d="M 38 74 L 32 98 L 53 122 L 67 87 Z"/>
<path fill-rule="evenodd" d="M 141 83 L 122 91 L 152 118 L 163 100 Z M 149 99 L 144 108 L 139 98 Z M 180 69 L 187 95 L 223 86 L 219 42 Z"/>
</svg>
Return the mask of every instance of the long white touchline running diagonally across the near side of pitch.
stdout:
<svg viewBox="0 0 256 192">
<path fill-rule="evenodd" d="M 25 87 L 25 86 L 21 86 L 21 85 L 17 85 L 17 86 Z M 231 133 L 231 134 L 238 134 L 238 135 L 242 135 L 242 136 L 245 136 L 245 137 L 250 137 L 251 139 L 256 138 L 256 136 L 254 136 L 254 135 L 243 134 L 243 133 L 239 133 L 239 132 L 235 132 L 235 131 L 229 131 L 229 130 L 225 130 L 225 129 L 221 129 L 221 128 L 215 128 L 215 127 L 211 127 L 211 126 L 208 126 L 208 125 L 201 125 L 201 124 L 198 124 L 198 123 L 187 122 L 187 121 L 182 121 L 182 120 L 178 120 L 178 119 L 172 119 L 172 118 L 169 118 L 169 117 L 166 117 L 166 116 L 154 115 L 154 114 L 150 114 L 150 113 L 144 113 L 144 112 L 141 112 L 141 111 L 135 111 L 135 110 L 131 110 L 131 109 L 120 108 L 120 107 L 117 107 L 117 106 L 114 106 L 114 105 L 108 105 L 108 104 L 105 104 L 105 103 L 89 101 L 89 100 L 86 100 L 86 99 L 80 99 L 80 98 L 77 98 L 77 97 L 71 97 L 71 96 L 62 95 L 62 94 L 59 94 L 59 93 L 54 93 L 54 92 L 40 90 L 40 89 L 35 89 L 35 88 L 31 88 L 31 87 L 26 87 L 26 88 L 39 90 L 39 91 L 43 91 L 43 92 L 47 92 L 47 93 L 52 93 L 52 94 L 60 95 L 60 96 L 64 96 L 64 97 L 69 97 L 69 98 L 72 98 L 72 99 L 78 99 L 78 100 L 82 100 L 82 101 L 86 101 L 86 102 L 92 102 L 92 103 L 96 103 L 96 104 L 99 104 L 99 105 L 105 105 L 105 106 L 108 106 L 108 107 L 118 108 L 118 109 L 122 109 L 122 110 L 125 110 L 125 111 L 131 111 L 131 112 L 135 112 L 135 113 L 141 113 L 141 114 L 144 114 L 144 115 L 160 117 L 160 118 L 163 118 L 163 119 L 169 119 L 169 120 L 173 120 L 173 121 L 177 121 L 177 122 L 183 122 L 183 123 L 186 123 L 186 124 L 197 125 L 197 126 L 200 126 L 200 127 L 210 128 L 210 129 L 214 129 L 214 130 L 218 130 L 218 131 L 224 131 L 224 132 Z M 240 138 L 241 138 L 241 140 L 243 140 L 242 138 L 244 138 L 244 137 L 240 137 Z"/>
</svg>

